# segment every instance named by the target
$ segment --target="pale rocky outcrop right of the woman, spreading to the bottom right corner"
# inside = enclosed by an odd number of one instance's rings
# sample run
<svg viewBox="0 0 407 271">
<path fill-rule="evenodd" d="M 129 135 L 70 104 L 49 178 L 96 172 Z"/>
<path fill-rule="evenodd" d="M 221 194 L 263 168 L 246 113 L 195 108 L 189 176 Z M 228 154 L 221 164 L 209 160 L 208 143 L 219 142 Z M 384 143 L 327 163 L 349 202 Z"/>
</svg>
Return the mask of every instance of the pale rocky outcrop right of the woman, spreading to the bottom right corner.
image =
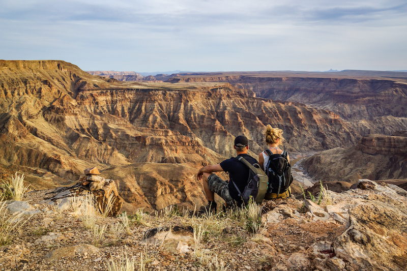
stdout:
<svg viewBox="0 0 407 271">
<path fill-rule="evenodd" d="M 319 233 L 319 236 L 332 234 L 328 233 L 330 227 L 344 226 L 332 242 L 313 243 L 306 251 L 293 253 L 286 260 L 282 258 L 276 262 L 279 269 L 271 270 L 283 270 L 284 267 L 293 270 L 404 270 L 407 267 L 407 191 L 368 179 L 359 180 L 358 187 L 360 189 L 342 193 L 331 192 L 333 203 L 329 205 L 324 201 L 318 205 L 305 200 L 305 214 L 279 205 L 263 215 L 269 228 L 289 223 L 294 232 L 298 227 L 307 229 L 309 234 Z M 317 227 L 316 223 L 319 223 Z"/>
</svg>

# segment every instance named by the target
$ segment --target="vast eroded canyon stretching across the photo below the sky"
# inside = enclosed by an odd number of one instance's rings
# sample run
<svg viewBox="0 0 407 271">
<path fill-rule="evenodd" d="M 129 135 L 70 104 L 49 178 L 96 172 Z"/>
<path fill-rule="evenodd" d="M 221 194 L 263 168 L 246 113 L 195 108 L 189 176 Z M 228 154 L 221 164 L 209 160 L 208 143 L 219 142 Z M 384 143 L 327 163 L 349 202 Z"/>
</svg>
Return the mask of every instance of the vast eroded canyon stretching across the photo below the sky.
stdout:
<svg viewBox="0 0 407 271">
<path fill-rule="evenodd" d="M 284 131 L 283 147 L 294 159 L 407 130 L 402 72 L 199 73 L 148 81 L 117 73 L 121 80 L 63 61 L 0 61 L 0 177 L 19 171 L 33 189 L 50 189 L 97 167 L 115 180 L 128 210 L 193 208 L 206 201 L 197 169 L 234 156 L 238 135 L 248 137 L 257 157 L 267 124 Z M 405 167 L 404 154 L 397 155 Z M 303 165 L 317 176 L 325 169 L 312 170 L 316 163 Z M 407 178 L 404 172 L 374 176 Z M 345 179 L 358 176 L 352 174 Z"/>
</svg>

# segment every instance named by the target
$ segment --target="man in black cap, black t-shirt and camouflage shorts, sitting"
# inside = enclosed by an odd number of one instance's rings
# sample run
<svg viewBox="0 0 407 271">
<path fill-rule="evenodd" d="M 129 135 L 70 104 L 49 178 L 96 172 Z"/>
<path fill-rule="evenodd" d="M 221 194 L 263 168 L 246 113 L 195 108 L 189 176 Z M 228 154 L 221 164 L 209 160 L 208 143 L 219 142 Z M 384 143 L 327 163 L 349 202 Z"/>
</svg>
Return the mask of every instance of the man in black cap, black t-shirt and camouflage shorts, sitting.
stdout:
<svg viewBox="0 0 407 271">
<path fill-rule="evenodd" d="M 249 146 L 245 136 L 238 136 L 235 139 L 234 148 L 236 149 L 236 154 L 242 156 L 250 164 L 258 163 L 256 159 L 247 154 Z M 212 173 L 216 171 L 228 172 L 229 181 L 225 182 L 219 176 Z M 234 204 L 242 205 L 243 200 L 238 196 L 239 192 L 235 185 L 240 191 L 243 191 L 247 185 L 249 174 L 250 169 L 234 157 L 224 160 L 217 165 L 208 165 L 199 169 L 197 178 L 198 180 L 202 179 L 203 189 L 209 201 L 208 205 L 200 207 L 200 211 L 216 213 L 215 192 L 225 200 L 227 206 Z"/>
</svg>

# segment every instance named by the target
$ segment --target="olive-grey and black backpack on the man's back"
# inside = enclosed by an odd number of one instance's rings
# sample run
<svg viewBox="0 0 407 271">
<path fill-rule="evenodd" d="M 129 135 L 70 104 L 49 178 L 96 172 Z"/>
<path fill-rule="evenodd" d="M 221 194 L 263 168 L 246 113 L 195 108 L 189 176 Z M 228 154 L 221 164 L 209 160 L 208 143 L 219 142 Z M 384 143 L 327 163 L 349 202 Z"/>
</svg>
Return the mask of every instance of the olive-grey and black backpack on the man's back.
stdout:
<svg viewBox="0 0 407 271">
<path fill-rule="evenodd" d="M 249 203 L 250 196 L 253 197 L 254 201 L 257 204 L 260 204 L 263 201 L 264 196 L 267 192 L 267 184 L 269 182 L 269 177 L 267 177 L 266 173 L 261 169 L 259 164 L 250 164 L 246 159 L 241 156 L 236 157 L 237 160 L 245 164 L 249 169 L 249 178 L 247 180 L 247 185 L 243 193 L 240 192 L 238 186 L 231 181 L 238 191 L 238 196 L 241 197 L 245 204 Z"/>
</svg>

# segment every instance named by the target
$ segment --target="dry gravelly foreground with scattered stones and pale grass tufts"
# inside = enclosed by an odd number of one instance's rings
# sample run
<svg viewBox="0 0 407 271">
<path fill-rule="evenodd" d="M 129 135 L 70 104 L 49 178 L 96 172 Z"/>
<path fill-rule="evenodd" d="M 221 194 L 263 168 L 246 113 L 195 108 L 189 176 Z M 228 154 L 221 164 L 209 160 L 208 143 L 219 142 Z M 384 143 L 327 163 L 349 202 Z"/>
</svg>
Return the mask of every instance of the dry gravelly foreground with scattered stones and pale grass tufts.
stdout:
<svg viewBox="0 0 407 271">
<path fill-rule="evenodd" d="M 201 217 L 144 214 L 142 218 L 130 218 L 130 234 L 125 230 L 113 234 L 113 225 L 120 224 L 120 218 L 99 216 L 96 224 L 105 226 L 106 231 L 101 241 L 95 242 L 93 231 L 83 226 L 82 218 L 72 209 L 56 212 L 52 205 L 41 204 L 44 198 L 54 195 L 52 191 L 34 191 L 25 196 L 24 200 L 41 212 L 27 220 L 11 244 L 0 247 L 0 270 L 108 270 L 112 260 L 120 261 L 126 255 L 134 259 L 136 270 L 271 270 L 293 253 L 304 253 L 318 240 L 333 242 L 344 230 L 340 224 L 306 222 L 304 214 L 304 223 L 287 217 L 280 224 L 264 227 L 257 235 L 230 217 L 208 222 Z M 302 201 L 269 201 L 263 213 L 276 206 L 301 211 Z M 144 232 L 155 227 L 197 223 L 210 226 L 198 250 L 191 245 L 185 254 L 143 239 Z"/>
</svg>

